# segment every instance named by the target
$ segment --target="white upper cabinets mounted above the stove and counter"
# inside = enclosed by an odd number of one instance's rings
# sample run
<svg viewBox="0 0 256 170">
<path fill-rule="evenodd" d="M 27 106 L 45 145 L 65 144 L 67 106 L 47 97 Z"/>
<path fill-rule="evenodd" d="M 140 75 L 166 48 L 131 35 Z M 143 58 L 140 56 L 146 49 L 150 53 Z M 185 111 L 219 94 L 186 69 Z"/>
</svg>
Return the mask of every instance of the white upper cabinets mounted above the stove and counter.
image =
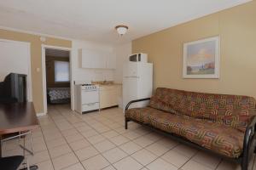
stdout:
<svg viewBox="0 0 256 170">
<path fill-rule="evenodd" d="M 116 58 L 113 53 L 90 49 L 79 49 L 82 68 L 115 69 Z"/>
</svg>

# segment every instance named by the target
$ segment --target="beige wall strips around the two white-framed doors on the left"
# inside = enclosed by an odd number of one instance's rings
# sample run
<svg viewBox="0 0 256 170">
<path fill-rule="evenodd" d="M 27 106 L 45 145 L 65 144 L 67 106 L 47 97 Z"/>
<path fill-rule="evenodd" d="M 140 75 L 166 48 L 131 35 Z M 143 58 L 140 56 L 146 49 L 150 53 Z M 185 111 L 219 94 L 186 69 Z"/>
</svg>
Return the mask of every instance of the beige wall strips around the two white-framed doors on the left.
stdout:
<svg viewBox="0 0 256 170">
<path fill-rule="evenodd" d="M 39 36 L 6 31 L 0 29 L 0 38 L 31 43 L 31 66 L 32 66 L 32 98 L 35 109 L 38 113 L 43 112 L 43 77 L 42 77 L 42 42 Z M 72 42 L 57 38 L 46 37 L 46 45 L 71 48 Z M 17 56 L 18 57 L 18 56 Z M 18 62 L 18 60 L 17 60 Z M 40 68 L 40 71 L 37 71 Z"/>
</svg>

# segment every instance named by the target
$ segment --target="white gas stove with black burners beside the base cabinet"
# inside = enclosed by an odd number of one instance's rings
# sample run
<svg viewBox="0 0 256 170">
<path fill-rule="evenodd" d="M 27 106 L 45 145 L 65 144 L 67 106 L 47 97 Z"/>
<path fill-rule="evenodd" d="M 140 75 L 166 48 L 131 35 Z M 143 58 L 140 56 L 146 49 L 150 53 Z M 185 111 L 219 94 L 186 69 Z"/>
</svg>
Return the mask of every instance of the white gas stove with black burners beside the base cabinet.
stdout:
<svg viewBox="0 0 256 170">
<path fill-rule="evenodd" d="M 99 86 L 90 83 L 75 84 L 75 111 L 83 114 L 99 109 Z"/>
</svg>

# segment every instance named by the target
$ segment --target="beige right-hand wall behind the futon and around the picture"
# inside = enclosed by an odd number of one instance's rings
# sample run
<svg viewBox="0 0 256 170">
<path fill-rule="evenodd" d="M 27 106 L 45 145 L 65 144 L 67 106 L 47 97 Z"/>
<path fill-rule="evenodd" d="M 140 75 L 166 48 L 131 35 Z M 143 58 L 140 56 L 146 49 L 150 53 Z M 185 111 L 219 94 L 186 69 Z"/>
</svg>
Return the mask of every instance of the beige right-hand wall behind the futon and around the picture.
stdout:
<svg viewBox="0 0 256 170">
<path fill-rule="evenodd" d="M 168 87 L 256 98 L 256 1 L 210 14 L 132 42 L 154 63 L 154 88 Z M 166 16 L 167 17 L 167 16 Z M 183 42 L 219 35 L 219 79 L 183 79 Z"/>
</svg>

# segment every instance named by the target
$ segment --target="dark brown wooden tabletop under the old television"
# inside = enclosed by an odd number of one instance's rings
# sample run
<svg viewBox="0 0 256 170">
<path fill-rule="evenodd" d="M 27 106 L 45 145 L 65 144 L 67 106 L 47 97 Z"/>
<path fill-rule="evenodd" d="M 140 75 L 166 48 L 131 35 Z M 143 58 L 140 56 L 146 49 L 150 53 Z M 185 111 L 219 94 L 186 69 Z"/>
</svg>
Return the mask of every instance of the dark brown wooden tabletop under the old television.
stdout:
<svg viewBox="0 0 256 170">
<path fill-rule="evenodd" d="M 37 127 L 38 118 L 32 102 L 0 104 L 0 137 L 3 134 L 26 132 Z M 0 143 L 2 152 L 1 149 Z"/>
</svg>

